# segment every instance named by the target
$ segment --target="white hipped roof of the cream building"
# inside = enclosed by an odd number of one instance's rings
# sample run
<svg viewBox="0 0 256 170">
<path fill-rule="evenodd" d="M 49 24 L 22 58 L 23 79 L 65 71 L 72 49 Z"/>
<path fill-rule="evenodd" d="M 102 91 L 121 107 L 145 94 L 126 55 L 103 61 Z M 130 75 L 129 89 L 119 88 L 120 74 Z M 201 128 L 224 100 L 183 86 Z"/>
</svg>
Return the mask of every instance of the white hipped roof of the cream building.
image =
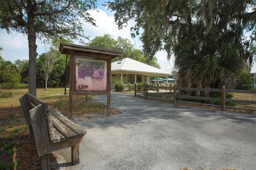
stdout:
<svg viewBox="0 0 256 170">
<path fill-rule="evenodd" d="M 131 58 L 124 58 L 123 60 L 111 63 L 111 72 L 126 71 L 134 73 L 156 74 L 156 75 L 170 75 L 166 71 L 153 67 L 151 65 L 141 63 Z"/>
</svg>

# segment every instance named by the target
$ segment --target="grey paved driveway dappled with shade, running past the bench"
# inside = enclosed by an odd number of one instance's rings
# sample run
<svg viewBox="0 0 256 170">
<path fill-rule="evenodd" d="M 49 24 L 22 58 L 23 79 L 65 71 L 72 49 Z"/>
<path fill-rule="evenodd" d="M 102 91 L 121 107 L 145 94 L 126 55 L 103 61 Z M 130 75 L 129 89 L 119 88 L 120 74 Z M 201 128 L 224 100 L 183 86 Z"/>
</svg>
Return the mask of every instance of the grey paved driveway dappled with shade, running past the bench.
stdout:
<svg viewBox="0 0 256 170">
<path fill-rule="evenodd" d="M 94 100 L 106 103 L 105 96 Z M 209 111 L 111 94 L 123 114 L 77 122 L 87 133 L 80 164 L 58 151 L 60 169 L 255 169 L 256 115 Z"/>
</svg>

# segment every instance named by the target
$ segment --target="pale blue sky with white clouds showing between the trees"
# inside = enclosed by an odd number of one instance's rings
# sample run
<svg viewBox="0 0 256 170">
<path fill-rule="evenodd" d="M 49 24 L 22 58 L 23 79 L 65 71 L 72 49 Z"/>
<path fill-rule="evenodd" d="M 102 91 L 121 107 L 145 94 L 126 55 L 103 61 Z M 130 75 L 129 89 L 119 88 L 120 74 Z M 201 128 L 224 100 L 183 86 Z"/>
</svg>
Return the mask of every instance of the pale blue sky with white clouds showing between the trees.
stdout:
<svg viewBox="0 0 256 170">
<path fill-rule="evenodd" d="M 119 30 L 115 20 L 114 12 L 107 10 L 106 7 L 102 6 L 105 0 L 98 1 L 97 10 L 90 10 L 92 18 L 95 19 L 97 27 L 83 22 L 83 29 L 85 36 L 89 36 L 89 40 L 92 40 L 95 36 L 103 36 L 108 33 L 113 38 L 121 36 L 122 38 L 128 38 L 135 48 L 142 49 L 142 43 L 139 40 L 139 37 L 131 38 L 130 26 L 134 24 L 132 21 L 124 27 L 122 30 Z M 75 44 L 79 44 L 78 41 L 75 41 Z M 49 45 L 44 44 L 41 41 L 37 41 L 37 53 L 40 55 L 45 53 L 49 49 Z M 28 60 L 28 40 L 26 35 L 21 33 L 11 32 L 8 34 L 6 30 L 0 29 L 0 47 L 3 48 L 1 51 L 1 56 L 6 61 L 14 62 L 18 59 Z M 161 69 L 167 72 L 171 72 L 173 68 L 173 60 L 167 61 L 167 53 L 165 51 L 160 51 L 156 53 Z M 253 66 L 254 72 L 256 72 L 256 63 Z M 252 70 L 252 71 L 253 71 Z"/>
</svg>

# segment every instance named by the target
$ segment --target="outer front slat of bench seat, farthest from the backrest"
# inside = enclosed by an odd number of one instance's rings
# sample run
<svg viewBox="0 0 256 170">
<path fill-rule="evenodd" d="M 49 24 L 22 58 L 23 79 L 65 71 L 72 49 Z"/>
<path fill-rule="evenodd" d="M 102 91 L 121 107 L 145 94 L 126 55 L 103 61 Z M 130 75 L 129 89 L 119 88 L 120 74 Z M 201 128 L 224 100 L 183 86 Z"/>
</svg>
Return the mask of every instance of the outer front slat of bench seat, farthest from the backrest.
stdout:
<svg viewBox="0 0 256 170">
<path fill-rule="evenodd" d="M 67 117 L 62 115 L 59 111 L 51 111 L 53 115 L 55 115 L 62 123 L 64 123 L 68 128 L 72 129 L 79 135 L 84 135 L 86 131 L 80 126 L 76 125 L 74 122 L 70 121 Z"/>
</svg>

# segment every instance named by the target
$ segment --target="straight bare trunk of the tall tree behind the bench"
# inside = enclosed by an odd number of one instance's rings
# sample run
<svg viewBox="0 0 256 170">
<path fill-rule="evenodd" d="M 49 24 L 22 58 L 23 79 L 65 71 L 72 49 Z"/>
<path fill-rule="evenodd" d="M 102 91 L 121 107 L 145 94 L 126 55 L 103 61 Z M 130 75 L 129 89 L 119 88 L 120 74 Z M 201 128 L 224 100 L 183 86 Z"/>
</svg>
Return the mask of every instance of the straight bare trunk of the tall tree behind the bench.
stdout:
<svg viewBox="0 0 256 170">
<path fill-rule="evenodd" d="M 28 92 L 36 96 L 36 32 L 34 29 L 34 16 L 28 14 L 28 48 L 29 48 L 29 72 Z"/>
</svg>

